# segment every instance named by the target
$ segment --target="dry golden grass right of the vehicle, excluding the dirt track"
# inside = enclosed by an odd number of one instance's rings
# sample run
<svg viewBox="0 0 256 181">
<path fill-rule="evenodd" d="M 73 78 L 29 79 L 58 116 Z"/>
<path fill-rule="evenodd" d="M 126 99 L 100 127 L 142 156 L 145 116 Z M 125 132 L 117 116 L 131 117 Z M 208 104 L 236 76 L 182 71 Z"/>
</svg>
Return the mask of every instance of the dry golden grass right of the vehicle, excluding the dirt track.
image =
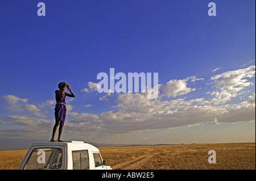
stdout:
<svg viewBox="0 0 256 181">
<path fill-rule="evenodd" d="M 208 151 L 216 151 L 216 163 L 208 163 Z M 100 148 L 107 165 L 114 166 L 147 153 L 159 153 L 140 169 L 255 169 L 255 143 L 195 144 Z"/>
</svg>

